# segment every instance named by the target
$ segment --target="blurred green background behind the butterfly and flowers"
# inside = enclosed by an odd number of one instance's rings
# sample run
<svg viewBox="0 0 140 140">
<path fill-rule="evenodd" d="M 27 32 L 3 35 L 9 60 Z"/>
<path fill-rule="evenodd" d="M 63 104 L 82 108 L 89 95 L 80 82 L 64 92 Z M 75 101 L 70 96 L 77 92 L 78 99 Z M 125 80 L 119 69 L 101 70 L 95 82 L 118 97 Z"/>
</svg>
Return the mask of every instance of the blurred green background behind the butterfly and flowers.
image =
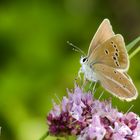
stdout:
<svg viewBox="0 0 140 140">
<path fill-rule="evenodd" d="M 138 0 L 0 1 L 0 139 L 37 140 L 46 132 L 52 99 L 57 101 L 55 94 L 62 99 L 66 88 L 74 87 L 80 67 L 81 54 L 66 41 L 87 52 L 104 18 L 126 44 L 140 35 Z M 128 73 L 140 92 L 139 61 L 140 53 L 131 59 Z M 124 112 L 134 104 L 132 111 L 140 115 L 140 97 L 112 101 Z"/>
</svg>

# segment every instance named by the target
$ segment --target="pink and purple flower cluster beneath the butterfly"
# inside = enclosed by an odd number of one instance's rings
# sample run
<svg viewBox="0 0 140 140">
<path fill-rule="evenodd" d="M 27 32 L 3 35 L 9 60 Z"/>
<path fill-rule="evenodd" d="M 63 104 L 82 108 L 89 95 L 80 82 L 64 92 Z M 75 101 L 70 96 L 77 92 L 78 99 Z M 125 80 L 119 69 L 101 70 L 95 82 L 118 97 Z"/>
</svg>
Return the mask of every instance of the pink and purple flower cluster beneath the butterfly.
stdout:
<svg viewBox="0 0 140 140">
<path fill-rule="evenodd" d="M 47 116 L 49 133 L 74 135 L 78 140 L 140 140 L 140 118 L 133 112 L 123 114 L 111 102 L 99 101 L 79 87 L 60 105 L 54 104 Z"/>
</svg>

